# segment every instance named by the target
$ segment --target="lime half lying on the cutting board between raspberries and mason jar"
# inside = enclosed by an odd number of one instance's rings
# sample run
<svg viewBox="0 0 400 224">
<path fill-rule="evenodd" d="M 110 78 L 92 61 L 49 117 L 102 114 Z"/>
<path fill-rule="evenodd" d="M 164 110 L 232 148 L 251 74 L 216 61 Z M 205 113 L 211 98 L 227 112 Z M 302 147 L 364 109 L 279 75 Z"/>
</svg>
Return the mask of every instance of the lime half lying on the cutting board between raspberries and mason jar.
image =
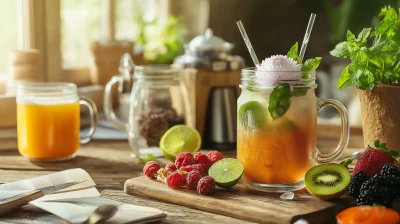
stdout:
<svg viewBox="0 0 400 224">
<path fill-rule="evenodd" d="M 214 178 L 219 187 L 230 188 L 240 180 L 243 170 L 243 164 L 239 160 L 226 158 L 214 163 L 208 175 Z"/>
</svg>

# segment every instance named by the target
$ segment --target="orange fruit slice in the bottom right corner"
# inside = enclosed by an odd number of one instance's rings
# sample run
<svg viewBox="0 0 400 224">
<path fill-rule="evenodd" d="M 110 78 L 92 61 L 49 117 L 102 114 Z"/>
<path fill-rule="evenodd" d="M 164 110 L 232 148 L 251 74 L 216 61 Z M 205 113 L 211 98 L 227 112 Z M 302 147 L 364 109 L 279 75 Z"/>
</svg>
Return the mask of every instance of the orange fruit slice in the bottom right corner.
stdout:
<svg viewBox="0 0 400 224">
<path fill-rule="evenodd" d="M 356 206 L 341 211 L 336 220 L 338 224 L 398 224 L 399 214 L 390 208 Z"/>
</svg>

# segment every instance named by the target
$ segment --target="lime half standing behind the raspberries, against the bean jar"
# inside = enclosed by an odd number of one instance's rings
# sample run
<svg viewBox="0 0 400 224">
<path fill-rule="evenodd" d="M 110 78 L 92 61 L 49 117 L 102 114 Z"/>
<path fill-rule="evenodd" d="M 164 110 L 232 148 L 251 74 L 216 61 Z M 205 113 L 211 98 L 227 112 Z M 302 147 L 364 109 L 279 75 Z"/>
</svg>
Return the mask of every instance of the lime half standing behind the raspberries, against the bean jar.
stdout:
<svg viewBox="0 0 400 224">
<path fill-rule="evenodd" d="M 194 153 L 200 149 L 199 132 L 186 125 L 175 125 L 168 129 L 160 140 L 160 149 L 164 157 L 175 161 L 180 152 Z"/>
</svg>

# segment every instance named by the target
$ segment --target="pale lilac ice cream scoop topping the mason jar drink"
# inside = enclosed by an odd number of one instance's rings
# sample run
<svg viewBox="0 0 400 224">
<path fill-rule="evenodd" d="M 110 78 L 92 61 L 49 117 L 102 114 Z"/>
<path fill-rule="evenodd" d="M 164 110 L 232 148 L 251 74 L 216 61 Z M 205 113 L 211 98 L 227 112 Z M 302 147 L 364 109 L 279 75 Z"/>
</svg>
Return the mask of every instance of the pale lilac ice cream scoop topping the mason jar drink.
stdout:
<svg viewBox="0 0 400 224">
<path fill-rule="evenodd" d="M 256 66 L 256 80 L 262 86 L 295 84 L 301 80 L 301 65 L 285 55 L 271 56 Z"/>
</svg>

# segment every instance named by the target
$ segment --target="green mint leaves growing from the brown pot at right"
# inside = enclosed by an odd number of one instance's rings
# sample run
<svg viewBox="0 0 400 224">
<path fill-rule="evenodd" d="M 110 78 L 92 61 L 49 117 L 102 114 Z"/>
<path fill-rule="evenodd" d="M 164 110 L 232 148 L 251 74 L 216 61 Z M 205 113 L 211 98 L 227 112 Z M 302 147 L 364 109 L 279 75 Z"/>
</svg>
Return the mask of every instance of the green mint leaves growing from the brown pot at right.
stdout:
<svg viewBox="0 0 400 224">
<path fill-rule="evenodd" d="M 351 60 L 339 77 L 337 88 L 372 90 L 377 84 L 400 83 L 400 16 L 390 7 L 383 8 L 380 16 L 382 20 L 374 31 L 364 28 L 357 37 L 347 31 L 346 41 L 330 52 Z"/>
</svg>

